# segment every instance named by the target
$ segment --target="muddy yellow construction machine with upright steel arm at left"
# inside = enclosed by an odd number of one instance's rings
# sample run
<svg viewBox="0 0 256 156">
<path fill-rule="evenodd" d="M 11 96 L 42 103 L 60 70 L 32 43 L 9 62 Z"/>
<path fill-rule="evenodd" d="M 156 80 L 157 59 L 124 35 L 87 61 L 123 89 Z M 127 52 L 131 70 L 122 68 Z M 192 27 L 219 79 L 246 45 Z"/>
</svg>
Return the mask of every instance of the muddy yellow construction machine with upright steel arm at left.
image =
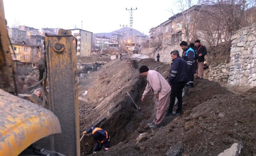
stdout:
<svg viewBox="0 0 256 156">
<path fill-rule="evenodd" d="M 6 24 L 0 0 L 0 156 L 80 156 L 77 39 L 66 30 L 45 37 L 40 76 L 44 102 L 49 105 L 45 109 L 16 96 Z"/>
</svg>

